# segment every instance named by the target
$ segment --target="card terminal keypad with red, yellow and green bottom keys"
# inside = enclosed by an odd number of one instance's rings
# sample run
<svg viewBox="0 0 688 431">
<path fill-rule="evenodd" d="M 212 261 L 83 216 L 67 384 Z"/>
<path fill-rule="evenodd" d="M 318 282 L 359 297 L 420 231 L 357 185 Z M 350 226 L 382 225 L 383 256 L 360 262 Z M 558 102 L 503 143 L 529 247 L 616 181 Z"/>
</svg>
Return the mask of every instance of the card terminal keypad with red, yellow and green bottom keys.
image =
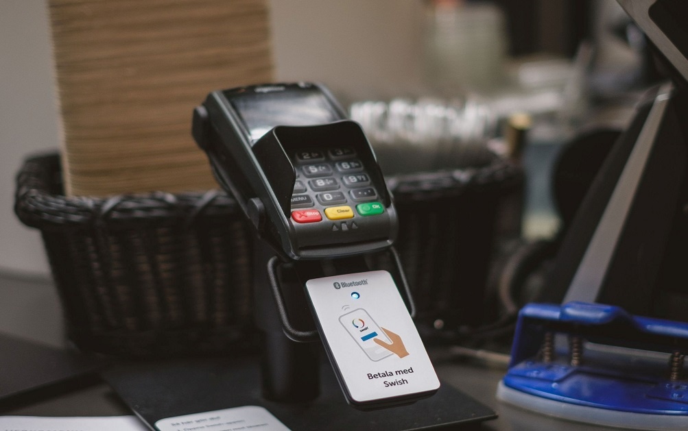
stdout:
<svg viewBox="0 0 688 431">
<path fill-rule="evenodd" d="M 291 199 L 292 221 L 319 223 L 383 214 L 380 195 L 354 148 L 304 148 L 290 157 L 297 172 Z"/>
</svg>

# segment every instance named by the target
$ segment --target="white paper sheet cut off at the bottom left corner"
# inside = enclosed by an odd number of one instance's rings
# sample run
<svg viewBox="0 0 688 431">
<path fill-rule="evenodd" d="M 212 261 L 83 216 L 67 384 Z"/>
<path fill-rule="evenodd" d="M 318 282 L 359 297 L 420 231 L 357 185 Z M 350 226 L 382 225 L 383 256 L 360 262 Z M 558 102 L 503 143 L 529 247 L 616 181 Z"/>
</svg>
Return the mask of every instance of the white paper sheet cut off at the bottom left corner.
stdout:
<svg viewBox="0 0 688 431">
<path fill-rule="evenodd" d="M 0 431 L 150 431 L 136 416 L 0 416 Z"/>
</svg>

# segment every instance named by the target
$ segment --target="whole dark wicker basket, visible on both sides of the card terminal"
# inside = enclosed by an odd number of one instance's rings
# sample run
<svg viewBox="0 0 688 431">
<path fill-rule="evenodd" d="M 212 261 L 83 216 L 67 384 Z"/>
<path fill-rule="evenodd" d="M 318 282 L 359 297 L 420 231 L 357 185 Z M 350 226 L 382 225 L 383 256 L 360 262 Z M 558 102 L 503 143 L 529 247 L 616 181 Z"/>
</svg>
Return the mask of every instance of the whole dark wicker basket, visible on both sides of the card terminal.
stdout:
<svg viewBox="0 0 688 431">
<path fill-rule="evenodd" d="M 480 167 L 389 179 L 400 252 L 418 322 L 432 329 L 486 319 L 486 283 L 506 197 L 522 170 Z M 129 357 L 255 349 L 251 234 L 224 192 L 110 199 L 62 195 L 57 155 L 31 157 L 15 211 L 39 228 L 78 347 Z M 391 265 L 386 254 L 375 265 Z"/>
</svg>

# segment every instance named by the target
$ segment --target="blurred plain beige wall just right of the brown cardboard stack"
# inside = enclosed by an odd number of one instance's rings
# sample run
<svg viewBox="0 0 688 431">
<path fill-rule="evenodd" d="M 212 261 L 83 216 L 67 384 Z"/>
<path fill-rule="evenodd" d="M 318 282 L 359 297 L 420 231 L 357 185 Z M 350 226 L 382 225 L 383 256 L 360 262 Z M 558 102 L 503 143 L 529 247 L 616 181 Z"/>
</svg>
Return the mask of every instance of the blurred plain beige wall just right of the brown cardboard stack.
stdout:
<svg viewBox="0 0 688 431">
<path fill-rule="evenodd" d="M 422 91 L 422 0 L 271 0 L 279 80 L 349 99 Z"/>
</svg>

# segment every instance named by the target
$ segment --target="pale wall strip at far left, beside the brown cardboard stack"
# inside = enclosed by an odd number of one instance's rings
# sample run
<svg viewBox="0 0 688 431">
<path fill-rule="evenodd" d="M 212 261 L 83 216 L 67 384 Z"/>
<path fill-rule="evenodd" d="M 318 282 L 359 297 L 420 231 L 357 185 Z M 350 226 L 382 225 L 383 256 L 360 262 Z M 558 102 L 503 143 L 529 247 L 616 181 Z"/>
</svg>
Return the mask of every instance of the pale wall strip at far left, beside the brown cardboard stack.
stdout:
<svg viewBox="0 0 688 431">
<path fill-rule="evenodd" d="M 12 211 L 29 153 L 58 146 L 52 54 L 43 0 L 0 0 L 0 271 L 47 275 L 39 233 Z"/>
</svg>

